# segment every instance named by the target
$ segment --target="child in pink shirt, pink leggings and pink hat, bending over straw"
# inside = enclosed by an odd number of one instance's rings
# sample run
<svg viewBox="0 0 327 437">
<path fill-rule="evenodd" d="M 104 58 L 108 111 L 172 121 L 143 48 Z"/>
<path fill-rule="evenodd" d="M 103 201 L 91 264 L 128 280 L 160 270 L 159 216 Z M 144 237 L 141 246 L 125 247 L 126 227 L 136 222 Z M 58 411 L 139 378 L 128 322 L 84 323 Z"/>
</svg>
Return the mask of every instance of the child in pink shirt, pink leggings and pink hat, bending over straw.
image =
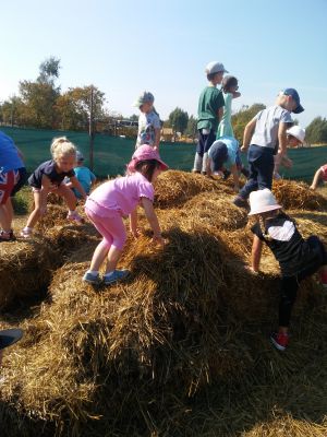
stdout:
<svg viewBox="0 0 327 437">
<path fill-rule="evenodd" d="M 90 284 L 100 283 L 99 269 L 106 257 L 107 267 L 104 274 L 105 285 L 124 279 L 128 270 L 117 270 L 126 240 L 123 217 L 131 216 L 131 231 L 137 237 L 137 204 L 144 208 L 145 215 L 154 232 L 154 243 L 164 245 L 160 226 L 154 211 L 155 190 L 153 184 L 168 166 L 160 160 L 156 149 L 141 145 L 136 149 L 128 165 L 129 175 L 110 180 L 97 187 L 85 203 L 85 212 L 104 239 L 97 246 L 89 270 L 83 281 Z"/>
</svg>

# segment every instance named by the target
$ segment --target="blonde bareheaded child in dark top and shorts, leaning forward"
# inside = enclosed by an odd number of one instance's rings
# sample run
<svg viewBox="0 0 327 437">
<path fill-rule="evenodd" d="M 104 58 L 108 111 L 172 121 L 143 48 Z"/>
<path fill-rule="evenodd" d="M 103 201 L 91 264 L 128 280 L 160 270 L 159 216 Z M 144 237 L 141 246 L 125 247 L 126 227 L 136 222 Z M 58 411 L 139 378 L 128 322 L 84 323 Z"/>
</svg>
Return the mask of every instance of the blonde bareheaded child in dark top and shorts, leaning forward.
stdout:
<svg viewBox="0 0 327 437">
<path fill-rule="evenodd" d="M 53 139 L 50 150 L 52 160 L 40 164 L 28 178 L 28 184 L 33 189 L 35 206 L 21 233 L 24 238 L 28 238 L 32 235 L 37 221 L 46 214 L 49 192 L 55 192 L 65 199 L 69 206 L 68 220 L 83 221 L 76 212 L 76 198 L 64 184 L 64 178 L 69 177 L 72 186 L 81 192 L 83 198 L 86 198 L 86 192 L 73 170 L 76 163 L 76 147 L 65 137 L 61 137 Z"/>
</svg>

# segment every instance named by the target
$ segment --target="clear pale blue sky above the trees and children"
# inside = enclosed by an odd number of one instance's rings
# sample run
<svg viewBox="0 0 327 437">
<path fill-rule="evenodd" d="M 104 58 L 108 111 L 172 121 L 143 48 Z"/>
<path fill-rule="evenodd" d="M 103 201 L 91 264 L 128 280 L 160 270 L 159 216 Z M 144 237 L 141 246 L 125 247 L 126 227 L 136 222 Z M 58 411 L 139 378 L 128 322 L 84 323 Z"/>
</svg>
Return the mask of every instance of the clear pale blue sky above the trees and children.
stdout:
<svg viewBox="0 0 327 437">
<path fill-rule="evenodd" d="M 327 117 L 327 0 L 15 0 L 1 4 L 0 101 L 61 59 L 62 91 L 96 85 L 111 111 L 130 116 L 152 91 L 161 118 L 177 106 L 196 115 L 205 66 L 239 79 L 233 108 L 274 104 L 295 87 L 307 126 Z"/>
</svg>

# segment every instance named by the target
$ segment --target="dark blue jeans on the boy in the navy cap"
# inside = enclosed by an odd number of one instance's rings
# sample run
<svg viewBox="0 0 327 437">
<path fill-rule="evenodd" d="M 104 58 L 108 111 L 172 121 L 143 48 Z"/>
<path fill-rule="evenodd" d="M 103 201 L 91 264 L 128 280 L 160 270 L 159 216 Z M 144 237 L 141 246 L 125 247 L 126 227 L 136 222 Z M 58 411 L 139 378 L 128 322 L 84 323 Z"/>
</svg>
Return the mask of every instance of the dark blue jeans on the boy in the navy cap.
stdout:
<svg viewBox="0 0 327 437">
<path fill-rule="evenodd" d="M 252 191 L 272 186 L 274 149 L 251 144 L 247 153 L 250 176 L 240 191 L 242 199 L 247 199 Z"/>
</svg>

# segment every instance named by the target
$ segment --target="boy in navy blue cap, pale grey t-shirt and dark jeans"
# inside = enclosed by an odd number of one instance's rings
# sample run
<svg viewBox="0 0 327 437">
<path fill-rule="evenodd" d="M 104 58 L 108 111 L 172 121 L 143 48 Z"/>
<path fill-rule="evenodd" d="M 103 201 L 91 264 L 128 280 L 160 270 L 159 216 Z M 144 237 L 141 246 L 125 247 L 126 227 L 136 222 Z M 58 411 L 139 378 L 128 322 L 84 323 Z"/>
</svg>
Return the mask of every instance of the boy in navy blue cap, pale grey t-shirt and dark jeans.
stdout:
<svg viewBox="0 0 327 437">
<path fill-rule="evenodd" d="M 252 191 L 271 189 L 275 164 L 278 166 L 282 161 L 291 165 L 287 156 L 287 129 L 293 122 L 291 113 L 300 114 L 303 110 L 296 90 L 286 88 L 278 94 L 274 106 L 261 110 L 246 125 L 241 151 L 249 149 L 250 176 L 233 200 L 237 206 L 247 209 L 247 198 Z"/>
</svg>

